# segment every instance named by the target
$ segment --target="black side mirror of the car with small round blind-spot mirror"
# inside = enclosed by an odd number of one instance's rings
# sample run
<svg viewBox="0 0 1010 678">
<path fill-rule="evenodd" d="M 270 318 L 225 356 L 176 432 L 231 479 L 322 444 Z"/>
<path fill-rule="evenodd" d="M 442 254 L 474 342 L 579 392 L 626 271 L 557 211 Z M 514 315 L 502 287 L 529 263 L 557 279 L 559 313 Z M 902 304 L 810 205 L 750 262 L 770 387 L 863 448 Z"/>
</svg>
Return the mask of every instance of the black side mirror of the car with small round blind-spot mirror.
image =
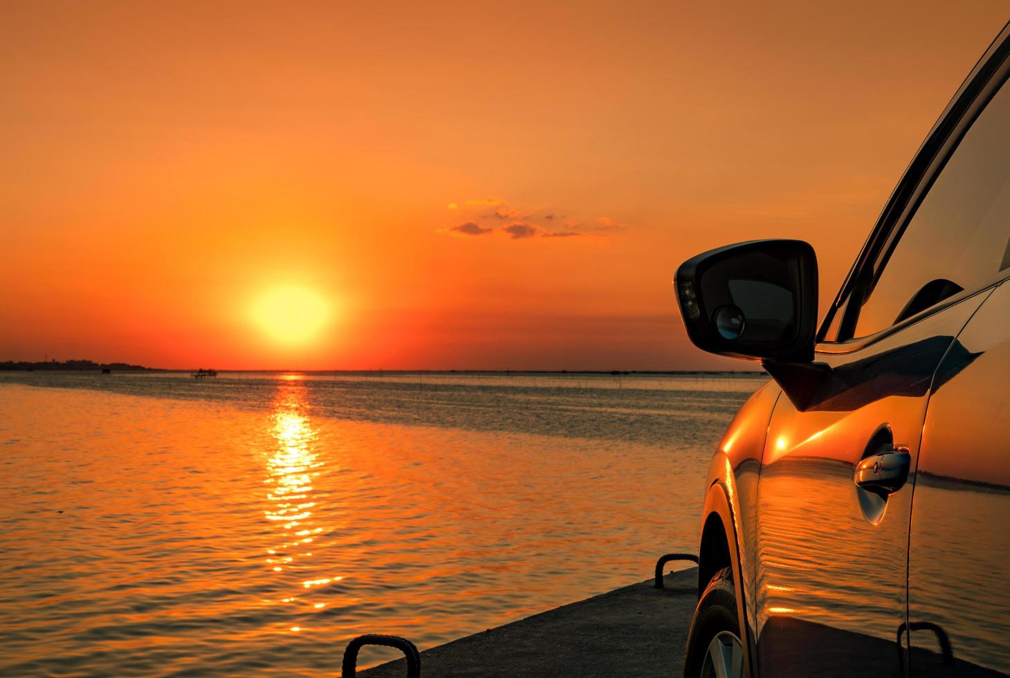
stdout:
<svg viewBox="0 0 1010 678">
<path fill-rule="evenodd" d="M 767 363 L 813 360 L 817 256 L 803 240 L 751 240 L 711 250 L 677 270 L 691 342 L 719 356 Z"/>
</svg>

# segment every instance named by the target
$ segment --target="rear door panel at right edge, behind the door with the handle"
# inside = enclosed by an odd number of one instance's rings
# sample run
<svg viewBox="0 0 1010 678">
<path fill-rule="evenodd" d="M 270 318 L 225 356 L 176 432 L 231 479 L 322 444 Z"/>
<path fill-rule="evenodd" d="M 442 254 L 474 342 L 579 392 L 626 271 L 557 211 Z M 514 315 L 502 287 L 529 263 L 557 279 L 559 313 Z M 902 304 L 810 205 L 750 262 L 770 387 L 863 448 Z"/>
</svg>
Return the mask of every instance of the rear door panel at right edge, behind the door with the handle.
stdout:
<svg viewBox="0 0 1010 678">
<path fill-rule="evenodd" d="M 937 373 L 915 477 L 913 676 L 1010 674 L 1010 285 L 958 341 Z"/>
</svg>

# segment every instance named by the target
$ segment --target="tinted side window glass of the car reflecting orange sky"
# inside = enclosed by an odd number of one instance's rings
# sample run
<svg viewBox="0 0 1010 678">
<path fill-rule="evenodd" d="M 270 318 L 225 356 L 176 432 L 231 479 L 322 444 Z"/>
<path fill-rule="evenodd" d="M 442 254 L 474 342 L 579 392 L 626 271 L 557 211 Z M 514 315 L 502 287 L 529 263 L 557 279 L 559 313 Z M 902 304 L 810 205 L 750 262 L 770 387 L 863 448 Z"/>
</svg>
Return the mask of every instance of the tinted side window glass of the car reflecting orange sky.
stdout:
<svg viewBox="0 0 1010 678">
<path fill-rule="evenodd" d="M 1002 87 L 929 189 L 880 277 L 855 336 L 880 331 L 1010 266 L 1010 87 Z"/>
</svg>

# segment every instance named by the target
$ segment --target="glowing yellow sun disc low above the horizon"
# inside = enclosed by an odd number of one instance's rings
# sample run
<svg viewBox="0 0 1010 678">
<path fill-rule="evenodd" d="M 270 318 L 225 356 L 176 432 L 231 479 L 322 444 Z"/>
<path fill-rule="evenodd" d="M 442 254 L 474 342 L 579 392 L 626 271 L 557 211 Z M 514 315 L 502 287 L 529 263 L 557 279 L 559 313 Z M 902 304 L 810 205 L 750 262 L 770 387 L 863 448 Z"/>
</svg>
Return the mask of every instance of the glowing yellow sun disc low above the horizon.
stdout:
<svg viewBox="0 0 1010 678">
<path fill-rule="evenodd" d="M 276 342 L 304 345 L 318 336 L 329 322 L 330 304 L 310 289 L 286 285 L 257 299 L 252 318 Z"/>
</svg>

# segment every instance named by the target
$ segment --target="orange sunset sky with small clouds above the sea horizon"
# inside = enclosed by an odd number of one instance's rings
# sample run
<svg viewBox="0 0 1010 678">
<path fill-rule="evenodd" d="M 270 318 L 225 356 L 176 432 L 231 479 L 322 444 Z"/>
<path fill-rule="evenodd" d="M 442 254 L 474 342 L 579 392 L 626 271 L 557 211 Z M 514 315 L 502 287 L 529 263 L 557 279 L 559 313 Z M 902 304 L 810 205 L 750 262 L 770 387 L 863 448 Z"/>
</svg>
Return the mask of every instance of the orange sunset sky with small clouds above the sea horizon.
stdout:
<svg viewBox="0 0 1010 678">
<path fill-rule="evenodd" d="M 0 360 L 747 367 L 677 265 L 801 237 L 826 302 L 1008 17 L 699 4 L 5 3 Z"/>
</svg>

